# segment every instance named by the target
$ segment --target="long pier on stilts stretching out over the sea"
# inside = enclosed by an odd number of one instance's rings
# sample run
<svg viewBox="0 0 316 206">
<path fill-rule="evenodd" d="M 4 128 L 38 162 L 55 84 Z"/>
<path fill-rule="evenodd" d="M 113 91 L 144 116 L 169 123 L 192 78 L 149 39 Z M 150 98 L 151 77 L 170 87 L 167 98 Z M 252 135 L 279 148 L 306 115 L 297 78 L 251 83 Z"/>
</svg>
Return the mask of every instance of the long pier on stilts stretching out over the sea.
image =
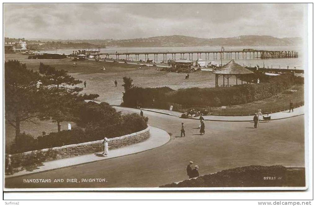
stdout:
<svg viewBox="0 0 316 206">
<path fill-rule="evenodd" d="M 90 54 L 97 58 L 100 56 L 106 56 L 107 59 L 110 56 L 115 56 L 115 59 L 119 60 L 120 56 L 125 57 L 126 60 L 130 59 L 130 55 L 135 57 L 136 61 L 139 61 L 139 55 L 145 55 L 145 60 L 149 59 L 149 55 L 153 57 L 155 63 L 158 62 L 158 55 L 163 56 L 163 62 L 167 61 L 167 55 L 172 55 L 172 59 L 176 59 L 176 55 L 180 59 L 187 58 L 193 60 L 193 54 L 197 54 L 197 58 L 205 60 L 210 59 L 278 59 L 278 58 L 298 58 L 298 52 L 294 50 L 255 50 L 255 49 L 244 49 L 244 50 L 232 50 L 232 51 L 161 51 L 161 52 L 115 52 L 115 53 L 99 53 Z"/>
</svg>

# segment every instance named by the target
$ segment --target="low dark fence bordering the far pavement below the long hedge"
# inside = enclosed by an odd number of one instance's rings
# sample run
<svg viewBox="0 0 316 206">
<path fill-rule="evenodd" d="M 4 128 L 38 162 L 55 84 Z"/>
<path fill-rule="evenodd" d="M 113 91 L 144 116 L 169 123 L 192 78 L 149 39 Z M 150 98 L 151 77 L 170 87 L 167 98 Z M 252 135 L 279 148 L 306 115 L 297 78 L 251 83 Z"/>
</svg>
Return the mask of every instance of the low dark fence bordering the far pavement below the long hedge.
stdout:
<svg viewBox="0 0 316 206">
<path fill-rule="evenodd" d="M 304 105 L 304 101 L 295 102 L 293 103 L 294 108 L 300 107 Z M 219 107 L 211 107 L 207 105 L 180 105 L 177 103 L 170 103 L 168 102 L 168 108 L 173 106 L 173 111 L 177 112 L 185 112 L 190 108 L 204 108 L 209 111 L 208 115 L 219 115 L 219 116 L 248 116 L 253 115 L 254 113 L 258 112 L 258 109 L 262 110 L 262 113 L 275 113 L 275 112 L 282 112 L 290 109 L 289 104 L 281 105 L 277 107 L 265 107 L 265 106 L 258 106 L 258 108 L 227 108 L 221 109 Z"/>
</svg>

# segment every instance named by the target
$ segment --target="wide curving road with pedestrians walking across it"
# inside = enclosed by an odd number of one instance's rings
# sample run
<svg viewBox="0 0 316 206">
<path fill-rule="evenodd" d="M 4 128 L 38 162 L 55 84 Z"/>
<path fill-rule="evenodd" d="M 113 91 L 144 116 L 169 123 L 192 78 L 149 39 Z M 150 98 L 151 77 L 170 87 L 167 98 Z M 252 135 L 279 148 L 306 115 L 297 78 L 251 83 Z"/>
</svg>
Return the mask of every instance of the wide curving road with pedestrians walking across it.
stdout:
<svg viewBox="0 0 316 206">
<path fill-rule="evenodd" d="M 122 112 L 136 112 L 116 107 Z M 122 157 L 6 179 L 7 188 L 158 187 L 187 178 L 190 160 L 200 175 L 247 165 L 304 166 L 304 116 L 259 123 L 206 122 L 199 135 L 198 120 L 144 111 L 151 126 L 171 134 L 163 146 Z M 186 137 L 179 137 L 181 122 Z M 106 182 L 23 183 L 33 178 L 106 178 Z"/>
</svg>

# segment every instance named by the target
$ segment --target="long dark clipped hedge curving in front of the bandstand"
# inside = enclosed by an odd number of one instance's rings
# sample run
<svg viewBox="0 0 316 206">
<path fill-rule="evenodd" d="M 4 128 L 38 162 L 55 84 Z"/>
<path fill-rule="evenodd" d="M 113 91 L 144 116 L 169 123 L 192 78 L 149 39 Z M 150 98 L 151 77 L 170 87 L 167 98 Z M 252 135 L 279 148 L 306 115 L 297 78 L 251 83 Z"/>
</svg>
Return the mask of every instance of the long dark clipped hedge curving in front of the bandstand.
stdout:
<svg viewBox="0 0 316 206">
<path fill-rule="evenodd" d="M 269 83 L 243 84 L 232 87 L 188 88 L 176 91 L 163 88 L 134 87 L 125 91 L 124 106 L 166 108 L 167 102 L 180 105 L 223 106 L 238 105 L 262 100 L 289 89 L 294 83 L 301 83 L 301 77 L 283 74 L 269 78 Z"/>
</svg>

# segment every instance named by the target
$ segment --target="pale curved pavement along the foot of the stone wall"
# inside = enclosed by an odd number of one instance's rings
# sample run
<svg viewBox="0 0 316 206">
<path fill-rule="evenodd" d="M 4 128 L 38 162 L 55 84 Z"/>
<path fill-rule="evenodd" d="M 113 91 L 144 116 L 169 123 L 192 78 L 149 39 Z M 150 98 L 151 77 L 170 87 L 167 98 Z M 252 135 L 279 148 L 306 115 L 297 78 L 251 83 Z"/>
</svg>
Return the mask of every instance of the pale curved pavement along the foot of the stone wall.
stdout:
<svg viewBox="0 0 316 206">
<path fill-rule="evenodd" d="M 110 150 L 110 153 L 107 157 L 104 157 L 102 155 L 103 151 L 101 151 L 101 152 L 94 152 L 92 154 L 81 155 L 77 157 L 63 158 L 63 159 L 43 162 L 43 165 L 38 166 L 38 168 L 36 169 L 19 171 L 12 175 L 6 175 L 6 178 L 17 177 L 21 175 L 28 175 L 31 173 L 39 173 L 39 172 L 44 172 L 48 170 L 54 170 L 57 168 L 80 165 L 84 163 L 96 162 L 96 161 L 110 159 L 114 157 L 121 157 L 124 155 L 134 154 L 137 152 L 143 152 L 143 151 L 150 150 L 155 147 L 164 145 L 170 139 L 170 135 L 166 131 L 159 128 L 151 127 L 151 126 L 149 126 L 149 135 L 150 135 L 149 139 L 143 142 L 139 142 L 133 145 Z"/>
</svg>

